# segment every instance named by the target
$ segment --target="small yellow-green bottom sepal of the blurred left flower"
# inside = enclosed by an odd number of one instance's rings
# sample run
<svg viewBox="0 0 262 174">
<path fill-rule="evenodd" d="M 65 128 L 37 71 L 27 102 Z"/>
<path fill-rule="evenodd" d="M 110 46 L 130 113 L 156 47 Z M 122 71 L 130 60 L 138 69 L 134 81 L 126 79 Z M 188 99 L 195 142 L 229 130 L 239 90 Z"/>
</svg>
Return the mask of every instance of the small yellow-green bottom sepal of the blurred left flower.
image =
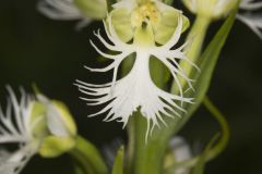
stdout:
<svg viewBox="0 0 262 174">
<path fill-rule="evenodd" d="M 75 146 L 74 138 L 48 136 L 41 142 L 39 154 L 44 158 L 56 158 Z"/>
</svg>

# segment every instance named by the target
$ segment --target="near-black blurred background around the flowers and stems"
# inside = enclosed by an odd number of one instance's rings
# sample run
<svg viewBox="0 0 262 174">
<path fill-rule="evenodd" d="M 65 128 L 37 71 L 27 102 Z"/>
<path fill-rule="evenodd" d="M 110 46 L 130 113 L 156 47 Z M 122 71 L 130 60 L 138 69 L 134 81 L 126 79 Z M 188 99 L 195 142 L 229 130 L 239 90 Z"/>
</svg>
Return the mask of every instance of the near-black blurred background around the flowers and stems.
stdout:
<svg viewBox="0 0 262 174">
<path fill-rule="evenodd" d="M 0 101 L 5 102 L 5 85 L 19 92 L 23 86 L 32 91 L 36 83 L 46 96 L 64 101 L 74 115 L 81 135 L 99 149 L 116 138 L 126 138 L 121 124 L 102 122 L 103 116 L 87 119 L 94 112 L 80 96 L 74 80 L 105 82 L 110 74 L 97 75 L 83 69 L 96 66 L 97 53 L 88 39 L 102 27 L 94 22 L 76 32 L 76 22 L 52 21 L 39 14 L 36 0 L 0 1 Z M 217 29 L 214 24 L 209 36 Z M 210 38 L 207 38 L 209 40 Z M 236 22 L 222 52 L 209 91 L 213 102 L 227 115 L 231 138 L 227 149 L 207 165 L 212 174 L 261 173 L 262 157 L 262 40 Z M 201 108 L 181 130 L 194 146 L 207 141 L 217 123 Z M 35 157 L 23 173 L 69 174 L 68 156 L 56 160 Z"/>
</svg>

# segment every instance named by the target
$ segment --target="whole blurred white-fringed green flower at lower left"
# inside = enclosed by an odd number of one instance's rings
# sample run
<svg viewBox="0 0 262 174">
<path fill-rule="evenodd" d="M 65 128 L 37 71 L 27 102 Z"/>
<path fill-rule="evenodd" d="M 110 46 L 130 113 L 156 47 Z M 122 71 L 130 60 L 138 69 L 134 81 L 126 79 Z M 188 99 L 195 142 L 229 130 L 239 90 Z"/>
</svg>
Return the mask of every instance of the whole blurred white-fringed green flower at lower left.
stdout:
<svg viewBox="0 0 262 174">
<path fill-rule="evenodd" d="M 74 125 L 63 119 L 64 111 L 51 102 L 43 103 L 21 90 L 19 101 L 13 90 L 8 87 L 10 98 L 7 111 L 0 109 L 0 145 L 15 144 L 17 150 L 0 150 L 0 173 L 19 174 L 29 159 L 39 153 L 43 157 L 56 157 L 67 149 L 49 149 L 52 145 L 48 138 L 64 139 L 74 136 Z M 67 117 L 67 116 L 66 116 Z M 67 130 L 67 132 L 66 132 Z M 73 133 L 69 133 L 73 130 Z M 70 140 L 68 140 L 70 142 Z"/>
</svg>

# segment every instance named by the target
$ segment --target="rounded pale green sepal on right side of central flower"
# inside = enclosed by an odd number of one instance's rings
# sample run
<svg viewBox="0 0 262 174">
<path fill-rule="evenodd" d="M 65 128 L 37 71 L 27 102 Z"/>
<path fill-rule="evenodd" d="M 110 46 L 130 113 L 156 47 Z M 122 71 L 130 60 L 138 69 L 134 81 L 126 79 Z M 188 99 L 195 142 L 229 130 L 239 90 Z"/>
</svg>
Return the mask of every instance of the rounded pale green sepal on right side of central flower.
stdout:
<svg viewBox="0 0 262 174">
<path fill-rule="evenodd" d="M 179 15 L 182 14 L 178 10 L 168 10 L 162 13 L 159 22 L 154 27 L 155 41 L 157 44 L 165 45 L 171 38 L 174 32 L 178 26 Z M 182 15 L 182 20 L 183 20 L 182 32 L 184 32 L 189 27 L 190 22 L 188 17 L 186 17 L 184 15 Z"/>
</svg>

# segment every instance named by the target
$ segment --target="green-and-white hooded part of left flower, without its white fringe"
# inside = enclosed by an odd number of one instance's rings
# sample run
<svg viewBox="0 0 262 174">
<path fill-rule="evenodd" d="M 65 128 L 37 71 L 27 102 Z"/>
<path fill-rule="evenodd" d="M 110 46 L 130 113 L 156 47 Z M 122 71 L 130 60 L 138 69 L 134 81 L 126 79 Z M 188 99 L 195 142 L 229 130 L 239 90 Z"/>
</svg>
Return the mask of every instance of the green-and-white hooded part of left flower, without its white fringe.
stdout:
<svg viewBox="0 0 262 174">
<path fill-rule="evenodd" d="M 39 92 L 37 99 L 39 102 L 35 104 L 33 115 L 38 117 L 43 115 L 43 120 L 45 120 L 38 124 L 40 126 L 36 129 L 45 133 L 38 152 L 41 157 L 55 158 L 75 146 L 76 126 L 71 113 L 62 102 L 49 100 Z"/>
</svg>

